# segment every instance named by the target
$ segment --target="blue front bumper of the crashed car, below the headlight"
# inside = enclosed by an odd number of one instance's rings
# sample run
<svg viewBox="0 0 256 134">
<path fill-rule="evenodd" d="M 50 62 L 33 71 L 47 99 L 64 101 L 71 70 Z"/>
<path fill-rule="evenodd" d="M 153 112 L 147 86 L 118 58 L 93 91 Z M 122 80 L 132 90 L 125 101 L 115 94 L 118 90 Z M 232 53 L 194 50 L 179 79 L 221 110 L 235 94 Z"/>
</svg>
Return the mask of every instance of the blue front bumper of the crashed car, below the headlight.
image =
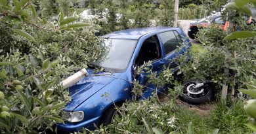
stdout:
<svg viewBox="0 0 256 134">
<path fill-rule="evenodd" d="M 100 123 L 100 117 L 92 118 L 91 120 L 85 120 L 77 123 L 65 122 L 65 124 L 56 124 L 57 133 L 74 133 L 74 131 L 83 131 L 83 128 L 87 128 L 89 130 L 95 129 L 94 124 L 98 126 Z"/>
</svg>

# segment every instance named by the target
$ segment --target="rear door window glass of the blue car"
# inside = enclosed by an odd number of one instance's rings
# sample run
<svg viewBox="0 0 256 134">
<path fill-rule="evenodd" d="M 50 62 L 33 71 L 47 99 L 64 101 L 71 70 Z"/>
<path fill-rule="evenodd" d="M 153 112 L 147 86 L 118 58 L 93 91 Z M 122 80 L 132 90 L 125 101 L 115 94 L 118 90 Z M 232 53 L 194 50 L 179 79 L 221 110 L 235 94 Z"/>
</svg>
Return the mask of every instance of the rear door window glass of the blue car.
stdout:
<svg viewBox="0 0 256 134">
<path fill-rule="evenodd" d="M 176 39 L 175 33 L 173 31 L 167 31 L 164 33 L 160 33 L 161 41 L 163 42 L 163 46 L 165 49 L 165 54 L 169 54 L 177 49 L 179 46 L 179 42 Z"/>
</svg>

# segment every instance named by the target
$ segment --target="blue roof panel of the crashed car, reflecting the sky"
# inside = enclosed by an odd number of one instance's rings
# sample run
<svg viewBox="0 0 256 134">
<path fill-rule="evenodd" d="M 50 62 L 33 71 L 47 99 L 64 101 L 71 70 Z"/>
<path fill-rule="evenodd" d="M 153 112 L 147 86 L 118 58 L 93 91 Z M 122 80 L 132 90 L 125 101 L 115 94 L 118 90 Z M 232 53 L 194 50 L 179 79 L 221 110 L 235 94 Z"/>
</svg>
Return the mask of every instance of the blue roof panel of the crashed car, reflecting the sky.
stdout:
<svg viewBox="0 0 256 134">
<path fill-rule="evenodd" d="M 160 31 L 168 31 L 177 28 L 173 27 L 142 27 L 135 29 L 125 29 L 121 31 L 115 31 L 113 33 L 108 33 L 103 35 L 104 38 L 114 38 L 114 39 L 139 39 L 143 35 L 148 33 L 159 33 Z"/>
</svg>

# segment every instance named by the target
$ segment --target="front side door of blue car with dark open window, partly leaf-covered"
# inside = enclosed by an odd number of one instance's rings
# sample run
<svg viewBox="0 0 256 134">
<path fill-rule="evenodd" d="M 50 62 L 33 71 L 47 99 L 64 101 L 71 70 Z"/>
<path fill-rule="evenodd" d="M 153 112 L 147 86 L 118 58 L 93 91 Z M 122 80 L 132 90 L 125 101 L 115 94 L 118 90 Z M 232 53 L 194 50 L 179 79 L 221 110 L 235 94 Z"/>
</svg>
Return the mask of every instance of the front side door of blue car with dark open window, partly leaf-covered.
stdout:
<svg viewBox="0 0 256 134">
<path fill-rule="evenodd" d="M 163 51 L 158 39 L 158 35 L 153 35 L 144 40 L 139 51 L 139 56 L 135 60 L 135 67 L 141 67 L 145 62 L 151 61 L 152 66 L 149 66 L 152 69 L 152 72 L 160 73 L 163 70 L 163 65 L 165 65 L 165 59 L 163 58 Z M 140 99 L 145 99 L 150 97 L 154 91 L 156 91 L 156 86 L 148 82 L 148 73 L 140 73 L 135 76 L 139 83 L 144 88 L 144 94 Z"/>
</svg>

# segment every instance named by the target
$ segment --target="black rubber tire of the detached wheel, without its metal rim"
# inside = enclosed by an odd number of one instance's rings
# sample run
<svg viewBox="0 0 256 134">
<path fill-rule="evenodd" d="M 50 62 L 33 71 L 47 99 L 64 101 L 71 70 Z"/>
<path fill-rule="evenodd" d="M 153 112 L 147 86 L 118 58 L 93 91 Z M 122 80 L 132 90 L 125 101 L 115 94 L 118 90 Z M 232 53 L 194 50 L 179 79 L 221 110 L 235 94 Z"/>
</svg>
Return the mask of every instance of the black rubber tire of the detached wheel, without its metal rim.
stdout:
<svg viewBox="0 0 256 134">
<path fill-rule="evenodd" d="M 202 96 L 194 96 L 194 97 L 190 97 L 187 95 L 187 91 L 186 88 L 188 87 L 188 85 L 190 84 L 196 84 L 196 82 L 198 81 L 188 81 L 188 82 L 184 82 L 184 84 L 182 84 L 183 88 L 183 93 L 180 95 L 180 98 L 182 101 L 185 101 L 186 103 L 192 104 L 192 105 L 200 105 L 203 103 L 209 103 L 213 100 L 214 98 L 214 92 L 213 92 L 213 86 L 211 84 L 208 84 L 208 86 L 203 86 L 203 88 L 207 88 L 204 89 L 204 92 Z"/>
</svg>

